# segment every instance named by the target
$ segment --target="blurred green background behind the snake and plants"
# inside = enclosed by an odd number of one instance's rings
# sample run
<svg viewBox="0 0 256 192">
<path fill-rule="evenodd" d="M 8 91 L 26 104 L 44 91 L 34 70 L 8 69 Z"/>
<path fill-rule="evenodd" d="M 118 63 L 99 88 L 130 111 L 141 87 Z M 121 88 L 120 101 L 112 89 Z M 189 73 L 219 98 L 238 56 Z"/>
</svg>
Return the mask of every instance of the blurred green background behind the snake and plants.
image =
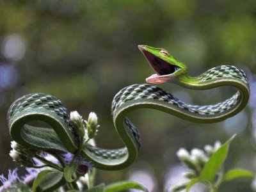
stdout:
<svg viewBox="0 0 256 192">
<path fill-rule="evenodd" d="M 10 134 L 6 113 L 18 97 L 34 92 L 60 99 L 68 111 L 99 117 L 99 147 L 122 147 L 111 119 L 115 94 L 125 86 L 145 83 L 154 72 L 138 44 L 164 47 L 196 76 L 221 64 L 242 68 L 252 95 L 238 115 L 216 124 L 195 124 L 152 109 L 129 114 L 141 132 L 137 161 L 121 171 L 97 173 L 97 183 L 131 179 L 150 191 L 179 181 L 184 170 L 180 147 L 203 148 L 226 141 L 226 168 L 256 170 L 256 2 L 246 1 L 25 1 L 0 0 L 0 169 L 15 163 L 8 156 Z M 225 87 L 193 91 L 161 85 L 185 102 L 213 104 L 236 90 Z M 20 171 L 22 172 L 22 171 Z M 250 180 L 228 182 L 222 191 L 250 191 Z"/>
</svg>

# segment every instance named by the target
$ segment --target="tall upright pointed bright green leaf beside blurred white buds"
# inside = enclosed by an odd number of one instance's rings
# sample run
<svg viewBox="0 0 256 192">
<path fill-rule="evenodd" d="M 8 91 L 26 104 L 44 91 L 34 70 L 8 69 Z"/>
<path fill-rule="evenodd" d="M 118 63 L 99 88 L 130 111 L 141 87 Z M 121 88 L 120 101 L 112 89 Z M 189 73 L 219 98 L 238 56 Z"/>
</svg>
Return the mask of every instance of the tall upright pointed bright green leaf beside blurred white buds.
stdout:
<svg viewBox="0 0 256 192">
<path fill-rule="evenodd" d="M 214 154 L 212 154 L 209 161 L 205 164 L 202 172 L 200 173 L 200 179 L 209 180 L 213 184 L 214 177 L 221 165 L 224 163 L 230 142 L 234 139 L 236 135 L 232 136 L 226 143 L 224 143 Z"/>
</svg>

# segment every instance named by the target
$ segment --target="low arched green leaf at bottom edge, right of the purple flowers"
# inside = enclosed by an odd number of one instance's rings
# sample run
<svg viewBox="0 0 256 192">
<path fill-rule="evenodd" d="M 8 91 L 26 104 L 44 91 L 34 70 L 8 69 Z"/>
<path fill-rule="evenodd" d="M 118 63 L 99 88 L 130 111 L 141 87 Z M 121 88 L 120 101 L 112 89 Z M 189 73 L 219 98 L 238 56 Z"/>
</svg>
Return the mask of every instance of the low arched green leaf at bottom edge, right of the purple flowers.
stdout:
<svg viewBox="0 0 256 192">
<path fill-rule="evenodd" d="M 116 182 L 114 184 L 110 184 L 109 186 L 106 186 L 106 188 L 104 189 L 104 192 L 123 191 L 125 189 L 140 189 L 141 191 L 148 192 L 147 188 L 145 188 L 141 184 L 138 184 L 132 181 L 121 181 L 121 182 Z"/>
</svg>

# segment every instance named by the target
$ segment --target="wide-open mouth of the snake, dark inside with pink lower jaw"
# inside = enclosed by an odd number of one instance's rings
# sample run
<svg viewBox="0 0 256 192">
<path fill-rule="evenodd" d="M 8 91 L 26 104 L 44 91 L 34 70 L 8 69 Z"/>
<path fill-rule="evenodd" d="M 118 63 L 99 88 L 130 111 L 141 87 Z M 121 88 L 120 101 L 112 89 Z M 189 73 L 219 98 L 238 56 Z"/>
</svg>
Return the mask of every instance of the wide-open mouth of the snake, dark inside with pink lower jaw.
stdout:
<svg viewBox="0 0 256 192">
<path fill-rule="evenodd" d="M 172 78 L 170 74 L 173 74 L 177 70 L 179 70 L 179 67 L 172 65 L 161 58 L 158 58 L 154 54 L 146 51 L 143 46 L 138 46 L 140 51 L 145 55 L 145 57 L 148 60 L 148 63 L 150 64 L 150 67 L 153 68 L 153 70 L 156 72 L 156 74 L 148 77 L 146 79 L 147 83 L 153 83 L 153 84 L 161 84 L 164 83 Z M 169 76 L 168 76 L 169 75 Z"/>
</svg>

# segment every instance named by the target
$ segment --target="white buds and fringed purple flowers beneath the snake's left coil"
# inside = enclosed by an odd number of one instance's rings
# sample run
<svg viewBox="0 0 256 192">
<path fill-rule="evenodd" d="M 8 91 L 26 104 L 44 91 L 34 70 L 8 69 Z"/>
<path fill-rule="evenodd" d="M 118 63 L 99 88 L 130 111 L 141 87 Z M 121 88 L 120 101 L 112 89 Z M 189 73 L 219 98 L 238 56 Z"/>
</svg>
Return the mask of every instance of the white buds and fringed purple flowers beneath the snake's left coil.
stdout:
<svg viewBox="0 0 256 192">
<path fill-rule="evenodd" d="M 99 128 L 96 113 L 91 112 L 86 121 L 83 120 L 83 117 L 79 115 L 77 111 L 72 111 L 70 113 L 70 120 L 75 129 L 77 129 L 77 132 L 79 132 L 81 141 L 83 141 L 81 142 L 81 148 L 87 142 L 95 146 L 93 138 Z M 26 175 L 19 177 L 17 168 L 15 170 L 9 170 L 8 178 L 4 177 L 4 175 L 0 175 L 0 181 L 3 184 L 0 186 L 0 192 L 12 188 L 15 183 L 22 183 L 24 186 L 31 187 L 38 173 L 44 170 L 54 169 L 64 172 L 65 167 L 70 166 L 70 164 L 76 164 L 77 168 L 74 175 L 78 188 L 82 189 L 84 184 L 87 186 L 89 184 L 89 177 L 86 173 L 92 171 L 93 164 L 79 156 L 79 152 L 77 152 L 77 154 L 69 152 L 65 154 L 49 154 L 47 152 L 38 152 L 25 148 L 15 141 L 11 142 L 11 147 L 10 156 L 13 161 L 21 164 L 21 166 L 26 166 Z"/>
</svg>

